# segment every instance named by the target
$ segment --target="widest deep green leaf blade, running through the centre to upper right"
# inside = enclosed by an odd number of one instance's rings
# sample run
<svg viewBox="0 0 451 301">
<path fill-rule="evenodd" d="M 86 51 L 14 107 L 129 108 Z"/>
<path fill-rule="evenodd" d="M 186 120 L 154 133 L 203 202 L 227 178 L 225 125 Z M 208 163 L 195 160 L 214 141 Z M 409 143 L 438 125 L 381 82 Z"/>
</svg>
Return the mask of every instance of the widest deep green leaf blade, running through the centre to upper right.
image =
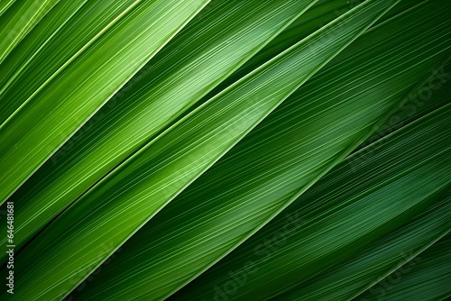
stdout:
<svg viewBox="0 0 451 301">
<path fill-rule="evenodd" d="M 342 52 L 300 87 L 133 235 L 115 254 L 114 264 L 102 266 L 74 296 L 121 299 L 148 292 L 140 297 L 152 299 L 153 287 L 177 286 L 172 283 L 183 283 L 183 274 L 194 278 L 242 242 L 344 155 L 340 151 L 363 139 L 410 92 L 408 87 L 443 59 L 441 49 L 417 47 L 441 41 L 446 33 L 446 15 L 436 19 L 437 12 L 425 14 L 430 9 L 418 7 L 354 41 L 346 48 L 353 55 Z M 419 16 L 434 34 L 421 35 L 421 29 L 407 34 Z M 398 32 L 385 34 L 389 28 Z M 395 47 L 410 39 L 408 46 Z M 424 65 L 409 69 L 419 55 Z M 363 113 L 354 117 L 355 112 Z"/>
</svg>

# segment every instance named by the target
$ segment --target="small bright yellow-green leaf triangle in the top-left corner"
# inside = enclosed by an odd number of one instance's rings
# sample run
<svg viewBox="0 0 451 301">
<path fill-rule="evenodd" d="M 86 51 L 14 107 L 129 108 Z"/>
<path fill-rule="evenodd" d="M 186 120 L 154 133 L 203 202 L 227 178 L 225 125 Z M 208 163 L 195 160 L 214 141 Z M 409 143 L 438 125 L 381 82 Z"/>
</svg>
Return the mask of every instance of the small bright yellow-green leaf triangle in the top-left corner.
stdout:
<svg viewBox="0 0 451 301">
<path fill-rule="evenodd" d="M 0 6 L 0 64 L 33 26 L 39 23 L 41 18 L 49 13 L 59 1 L 17 1 L 15 4 L 13 1 L 2 1 Z M 3 14 L 4 11 L 5 14 Z"/>
</svg>

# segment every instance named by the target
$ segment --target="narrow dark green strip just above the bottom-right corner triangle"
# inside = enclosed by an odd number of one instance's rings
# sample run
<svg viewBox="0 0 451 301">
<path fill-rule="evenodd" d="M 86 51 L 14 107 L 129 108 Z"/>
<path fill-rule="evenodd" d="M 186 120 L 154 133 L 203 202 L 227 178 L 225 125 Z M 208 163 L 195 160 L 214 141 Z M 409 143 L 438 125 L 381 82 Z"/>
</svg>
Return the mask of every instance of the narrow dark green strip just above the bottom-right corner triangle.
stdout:
<svg viewBox="0 0 451 301">
<path fill-rule="evenodd" d="M 402 265 L 411 266 L 415 257 L 443 237 L 451 229 L 451 203 L 444 198 L 432 205 L 425 213 L 413 217 L 407 225 L 374 242 L 364 251 L 343 263 L 311 278 L 284 295 L 289 300 L 350 300 L 360 292 L 391 274 Z M 421 254 L 419 255 L 421 257 Z M 406 263 L 407 262 L 407 263 Z M 401 275 L 407 274 L 408 269 Z M 398 274 L 398 273 L 397 273 Z M 399 278 L 397 276 L 396 278 Z M 382 281 L 383 286 L 395 281 Z M 380 287 L 370 289 L 375 296 L 381 296 Z M 356 297 L 359 300 L 360 297 Z"/>
</svg>

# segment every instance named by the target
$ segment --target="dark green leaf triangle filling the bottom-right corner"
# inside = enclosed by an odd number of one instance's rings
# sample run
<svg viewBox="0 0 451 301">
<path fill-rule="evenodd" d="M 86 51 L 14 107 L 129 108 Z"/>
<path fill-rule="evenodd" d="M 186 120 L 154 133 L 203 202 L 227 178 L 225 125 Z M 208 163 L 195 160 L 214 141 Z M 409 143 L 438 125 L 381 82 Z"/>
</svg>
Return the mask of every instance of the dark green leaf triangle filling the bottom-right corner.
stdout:
<svg viewBox="0 0 451 301">
<path fill-rule="evenodd" d="M 450 201 L 448 197 L 448 206 Z M 451 235 L 448 234 L 355 300 L 445 300 L 451 296 L 450 280 Z"/>
</svg>

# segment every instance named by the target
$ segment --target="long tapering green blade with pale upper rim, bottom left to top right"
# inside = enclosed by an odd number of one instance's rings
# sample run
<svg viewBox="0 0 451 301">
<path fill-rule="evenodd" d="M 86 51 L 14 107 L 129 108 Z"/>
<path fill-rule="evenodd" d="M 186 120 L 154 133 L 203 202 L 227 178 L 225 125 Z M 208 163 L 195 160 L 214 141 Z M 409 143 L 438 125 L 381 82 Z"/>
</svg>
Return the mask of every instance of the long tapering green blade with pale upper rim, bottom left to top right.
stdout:
<svg viewBox="0 0 451 301">
<path fill-rule="evenodd" d="M 126 160 L 17 256 L 16 285 L 23 289 L 14 299 L 53 298 L 77 285 L 395 3 L 366 1 L 357 6 L 201 105 Z M 154 290 L 154 296 L 168 294 L 173 285 Z"/>
</svg>

